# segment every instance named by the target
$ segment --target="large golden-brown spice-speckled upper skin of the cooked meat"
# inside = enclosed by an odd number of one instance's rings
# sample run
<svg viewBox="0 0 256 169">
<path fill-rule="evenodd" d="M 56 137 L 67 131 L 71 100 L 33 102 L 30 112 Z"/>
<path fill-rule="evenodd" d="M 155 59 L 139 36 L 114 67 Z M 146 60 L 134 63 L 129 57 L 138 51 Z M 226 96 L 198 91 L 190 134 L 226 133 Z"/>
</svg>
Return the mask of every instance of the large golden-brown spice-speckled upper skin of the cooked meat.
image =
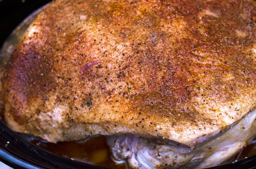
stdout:
<svg viewBox="0 0 256 169">
<path fill-rule="evenodd" d="M 253 0 L 56 0 L 6 66 L 6 122 L 50 142 L 131 133 L 193 147 L 255 108 L 255 10 Z"/>
</svg>

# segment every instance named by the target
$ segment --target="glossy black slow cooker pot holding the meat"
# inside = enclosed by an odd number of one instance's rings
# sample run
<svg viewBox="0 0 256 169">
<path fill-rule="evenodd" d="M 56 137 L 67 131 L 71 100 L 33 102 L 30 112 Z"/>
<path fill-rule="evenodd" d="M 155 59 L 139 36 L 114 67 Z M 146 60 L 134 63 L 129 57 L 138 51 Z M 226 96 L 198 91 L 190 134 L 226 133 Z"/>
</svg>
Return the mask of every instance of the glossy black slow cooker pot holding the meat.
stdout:
<svg viewBox="0 0 256 169">
<path fill-rule="evenodd" d="M 0 47 L 21 21 L 48 2 L 50 0 L 0 0 Z M 104 169 L 104 167 L 60 157 L 32 145 L 19 134 L 11 131 L 2 121 L 0 121 L 0 161 L 13 168 Z M 212 169 L 226 168 L 254 169 L 256 155 Z"/>
</svg>

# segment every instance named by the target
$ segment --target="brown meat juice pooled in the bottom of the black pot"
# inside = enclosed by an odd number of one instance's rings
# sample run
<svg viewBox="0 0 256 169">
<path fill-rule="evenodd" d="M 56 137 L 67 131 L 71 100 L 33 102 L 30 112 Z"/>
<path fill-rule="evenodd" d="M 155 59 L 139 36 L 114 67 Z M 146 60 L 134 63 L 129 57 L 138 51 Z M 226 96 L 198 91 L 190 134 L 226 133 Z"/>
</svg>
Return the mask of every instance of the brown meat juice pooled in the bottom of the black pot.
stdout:
<svg viewBox="0 0 256 169">
<path fill-rule="evenodd" d="M 33 140 L 33 144 L 63 157 L 77 161 L 95 164 L 97 166 L 126 169 L 125 163 L 117 164 L 111 158 L 111 151 L 104 136 L 92 137 L 85 142 L 58 142 L 47 143 L 40 140 Z M 240 160 L 256 154 L 256 140 L 242 149 L 232 160 Z"/>
</svg>

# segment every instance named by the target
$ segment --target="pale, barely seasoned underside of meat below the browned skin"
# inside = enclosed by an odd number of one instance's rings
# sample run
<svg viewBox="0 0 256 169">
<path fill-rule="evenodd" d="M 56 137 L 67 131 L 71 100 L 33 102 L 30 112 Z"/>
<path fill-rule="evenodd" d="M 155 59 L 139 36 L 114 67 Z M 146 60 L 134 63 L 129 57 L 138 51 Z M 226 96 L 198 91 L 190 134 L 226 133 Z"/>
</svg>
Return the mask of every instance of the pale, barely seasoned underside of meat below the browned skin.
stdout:
<svg viewBox="0 0 256 169">
<path fill-rule="evenodd" d="M 253 110 L 229 130 L 221 131 L 194 149 L 167 139 L 145 139 L 131 134 L 107 136 L 107 140 L 113 157 L 125 160 L 131 168 L 201 169 L 228 162 L 238 154 L 255 137 L 255 121 L 256 110 Z"/>
</svg>

